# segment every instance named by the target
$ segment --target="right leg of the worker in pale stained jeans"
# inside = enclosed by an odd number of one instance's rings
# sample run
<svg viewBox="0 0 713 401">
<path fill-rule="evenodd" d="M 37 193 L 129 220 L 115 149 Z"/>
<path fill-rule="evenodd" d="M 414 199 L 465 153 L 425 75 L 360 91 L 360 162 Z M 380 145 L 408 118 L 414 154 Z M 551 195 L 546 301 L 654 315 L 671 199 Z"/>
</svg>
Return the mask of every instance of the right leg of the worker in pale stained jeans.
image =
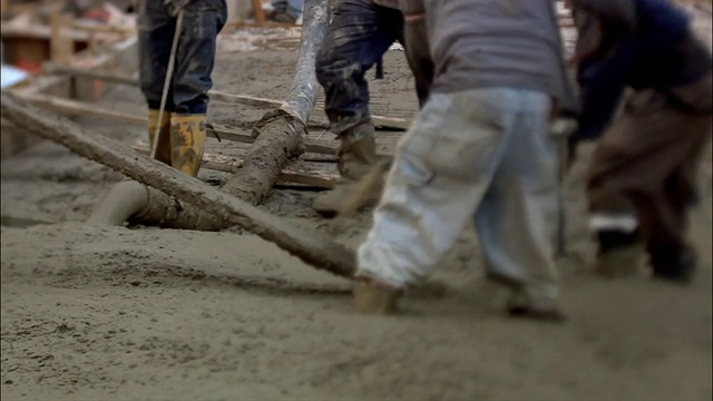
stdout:
<svg viewBox="0 0 713 401">
<path fill-rule="evenodd" d="M 546 95 L 524 95 L 520 118 L 475 215 L 488 274 L 518 295 L 510 307 L 541 314 L 556 313 L 559 294 L 554 260 L 559 155 L 549 117 Z"/>
</svg>

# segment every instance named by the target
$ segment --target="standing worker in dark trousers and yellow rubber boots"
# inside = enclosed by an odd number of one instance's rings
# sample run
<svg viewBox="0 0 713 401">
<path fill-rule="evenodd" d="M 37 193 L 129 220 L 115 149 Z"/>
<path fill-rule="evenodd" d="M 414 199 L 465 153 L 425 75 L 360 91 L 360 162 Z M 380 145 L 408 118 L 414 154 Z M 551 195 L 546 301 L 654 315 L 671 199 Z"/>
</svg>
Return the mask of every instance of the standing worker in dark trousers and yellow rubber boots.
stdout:
<svg viewBox="0 0 713 401">
<path fill-rule="evenodd" d="M 164 82 L 183 8 L 183 28 L 166 108 L 158 121 Z M 141 0 L 138 9 L 139 81 L 148 104 L 148 138 L 156 159 L 196 176 L 205 146 L 208 90 L 225 0 Z M 160 125 L 158 138 L 156 128 Z"/>
</svg>

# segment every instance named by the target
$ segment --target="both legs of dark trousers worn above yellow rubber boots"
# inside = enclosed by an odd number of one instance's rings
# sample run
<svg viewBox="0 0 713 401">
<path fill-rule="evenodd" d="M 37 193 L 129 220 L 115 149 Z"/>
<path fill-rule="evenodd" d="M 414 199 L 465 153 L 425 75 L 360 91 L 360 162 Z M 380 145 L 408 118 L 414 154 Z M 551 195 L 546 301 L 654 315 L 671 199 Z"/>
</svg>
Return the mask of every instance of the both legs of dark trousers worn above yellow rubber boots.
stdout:
<svg viewBox="0 0 713 401">
<path fill-rule="evenodd" d="M 217 35 L 227 18 L 225 0 L 189 1 L 176 52 L 166 110 L 205 115 Z M 139 81 L 149 109 L 159 109 L 176 18 L 163 0 L 140 0 L 138 9 Z"/>
</svg>

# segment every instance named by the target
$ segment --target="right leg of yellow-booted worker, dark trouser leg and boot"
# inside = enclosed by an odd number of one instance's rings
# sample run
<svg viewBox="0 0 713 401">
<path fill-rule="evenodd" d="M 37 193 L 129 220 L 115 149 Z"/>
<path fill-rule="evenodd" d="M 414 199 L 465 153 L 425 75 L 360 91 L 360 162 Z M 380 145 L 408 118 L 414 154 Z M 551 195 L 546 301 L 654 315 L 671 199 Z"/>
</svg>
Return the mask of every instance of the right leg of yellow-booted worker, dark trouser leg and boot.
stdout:
<svg viewBox="0 0 713 401">
<path fill-rule="evenodd" d="M 211 75 L 226 17 L 225 0 L 191 1 L 185 8 L 174 72 L 170 143 L 173 166 L 193 176 L 203 158 Z"/>
</svg>

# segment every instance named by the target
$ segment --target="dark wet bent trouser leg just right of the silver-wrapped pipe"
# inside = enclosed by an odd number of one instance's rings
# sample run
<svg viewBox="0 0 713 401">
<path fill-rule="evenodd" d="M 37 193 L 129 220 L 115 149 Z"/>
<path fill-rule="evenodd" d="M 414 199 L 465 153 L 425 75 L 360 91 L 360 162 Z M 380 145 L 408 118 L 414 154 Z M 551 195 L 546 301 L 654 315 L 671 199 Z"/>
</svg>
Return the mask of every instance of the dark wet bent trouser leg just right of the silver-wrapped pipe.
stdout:
<svg viewBox="0 0 713 401">
<path fill-rule="evenodd" d="M 365 72 L 401 37 L 403 17 L 372 0 L 341 0 L 316 57 L 316 78 L 324 88 L 325 113 L 336 134 L 368 121 Z"/>
</svg>

